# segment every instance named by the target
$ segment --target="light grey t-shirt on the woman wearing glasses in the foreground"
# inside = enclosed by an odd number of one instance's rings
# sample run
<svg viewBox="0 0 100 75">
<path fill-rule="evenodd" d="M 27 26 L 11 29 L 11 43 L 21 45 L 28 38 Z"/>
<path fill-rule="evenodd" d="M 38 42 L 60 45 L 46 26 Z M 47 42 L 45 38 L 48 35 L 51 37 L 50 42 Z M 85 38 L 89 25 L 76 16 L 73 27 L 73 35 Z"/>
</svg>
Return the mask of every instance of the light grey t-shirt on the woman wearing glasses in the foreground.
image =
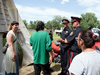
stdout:
<svg viewBox="0 0 100 75">
<path fill-rule="evenodd" d="M 100 51 L 82 52 L 76 55 L 69 72 L 75 75 L 100 75 Z"/>
</svg>

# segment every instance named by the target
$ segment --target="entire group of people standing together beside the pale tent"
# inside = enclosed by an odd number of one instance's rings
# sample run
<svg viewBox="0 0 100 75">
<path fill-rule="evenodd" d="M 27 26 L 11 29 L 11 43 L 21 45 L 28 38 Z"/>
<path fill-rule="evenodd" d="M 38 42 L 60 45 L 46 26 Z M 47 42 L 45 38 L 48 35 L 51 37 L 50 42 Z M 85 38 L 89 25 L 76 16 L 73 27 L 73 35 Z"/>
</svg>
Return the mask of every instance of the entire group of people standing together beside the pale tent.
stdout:
<svg viewBox="0 0 100 75">
<path fill-rule="evenodd" d="M 81 18 L 71 17 L 71 30 L 69 20 L 63 19 L 64 29 L 61 33 L 59 50 L 61 55 L 61 73 L 58 75 L 100 75 L 100 51 L 93 49 L 95 42 L 99 42 L 99 36 L 93 34 L 91 30 L 82 30 L 80 26 Z M 12 21 L 7 33 L 9 47 L 5 54 L 5 75 L 19 75 L 18 72 L 18 49 L 16 47 L 16 33 L 19 23 Z M 40 75 L 43 70 L 44 75 L 50 75 L 50 64 L 52 63 L 52 32 L 44 31 L 44 23 L 39 21 L 36 31 L 30 37 L 34 56 L 35 75 Z M 51 37 L 49 36 L 51 35 Z M 51 39 L 50 39 L 51 38 Z"/>
</svg>

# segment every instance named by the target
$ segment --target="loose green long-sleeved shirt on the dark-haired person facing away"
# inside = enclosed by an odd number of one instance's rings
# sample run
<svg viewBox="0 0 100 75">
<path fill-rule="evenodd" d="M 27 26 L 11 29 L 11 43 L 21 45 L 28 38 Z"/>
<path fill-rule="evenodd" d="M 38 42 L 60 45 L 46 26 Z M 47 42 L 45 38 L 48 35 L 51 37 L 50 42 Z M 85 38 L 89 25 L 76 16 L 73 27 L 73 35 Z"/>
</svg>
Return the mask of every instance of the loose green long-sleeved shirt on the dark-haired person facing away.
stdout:
<svg viewBox="0 0 100 75">
<path fill-rule="evenodd" d="M 34 64 L 47 64 L 49 62 L 49 52 L 52 51 L 51 40 L 48 32 L 36 31 L 30 37 L 32 45 Z"/>
</svg>

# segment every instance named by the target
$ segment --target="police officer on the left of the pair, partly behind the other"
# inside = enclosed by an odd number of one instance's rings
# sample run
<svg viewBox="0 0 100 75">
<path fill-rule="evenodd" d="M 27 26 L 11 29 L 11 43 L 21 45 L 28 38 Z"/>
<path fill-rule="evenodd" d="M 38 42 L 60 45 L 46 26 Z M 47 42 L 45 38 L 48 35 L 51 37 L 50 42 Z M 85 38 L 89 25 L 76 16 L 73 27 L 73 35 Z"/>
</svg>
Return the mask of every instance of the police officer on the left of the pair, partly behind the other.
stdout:
<svg viewBox="0 0 100 75">
<path fill-rule="evenodd" d="M 67 19 L 63 19 L 62 24 L 64 26 L 64 29 L 61 33 L 61 36 L 60 36 L 61 38 L 59 40 L 57 40 L 58 42 L 61 42 L 61 40 L 65 40 L 65 38 L 68 37 L 71 32 L 70 28 L 68 27 L 69 21 Z M 67 67 L 67 47 L 68 47 L 68 45 L 62 41 L 61 45 L 60 45 L 62 71 L 58 75 L 67 75 L 67 73 L 66 73 L 66 70 L 67 70 L 67 68 L 66 68 Z"/>
</svg>

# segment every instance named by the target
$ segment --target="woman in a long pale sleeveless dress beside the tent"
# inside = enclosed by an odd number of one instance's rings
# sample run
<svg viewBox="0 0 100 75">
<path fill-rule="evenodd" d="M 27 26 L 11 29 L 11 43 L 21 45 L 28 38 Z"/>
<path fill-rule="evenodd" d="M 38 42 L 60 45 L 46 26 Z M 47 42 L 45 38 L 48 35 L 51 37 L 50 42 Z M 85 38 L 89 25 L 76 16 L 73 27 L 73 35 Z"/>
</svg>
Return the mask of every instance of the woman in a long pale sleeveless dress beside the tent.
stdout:
<svg viewBox="0 0 100 75">
<path fill-rule="evenodd" d="M 12 21 L 8 27 L 8 33 L 6 35 L 8 49 L 5 54 L 5 75 L 19 75 L 18 73 L 18 55 L 20 54 L 16 49 L 17 41 L 16 33 L 19 27 L 19 23 Z"/>
</svg>

